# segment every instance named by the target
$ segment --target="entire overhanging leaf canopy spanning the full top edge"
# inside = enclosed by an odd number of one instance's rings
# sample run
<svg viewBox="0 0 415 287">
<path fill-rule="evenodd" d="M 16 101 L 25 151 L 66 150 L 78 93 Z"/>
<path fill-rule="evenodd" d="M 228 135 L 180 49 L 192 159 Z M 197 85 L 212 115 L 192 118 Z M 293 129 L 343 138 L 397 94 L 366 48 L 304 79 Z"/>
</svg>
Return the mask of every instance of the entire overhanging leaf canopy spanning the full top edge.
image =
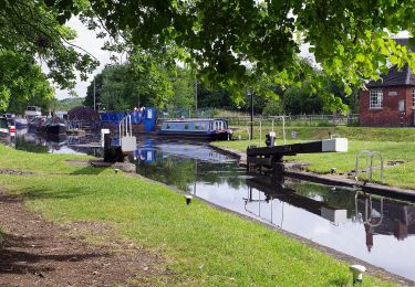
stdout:
<svg viewBox="0 0 415 287">
<path fill-rule="evenodd" d="M 310 70 L 299 52 L 307 43 L 350 94 L 390 65 L 415 70 L 415 54 L 391 40 L 391 33 L 415 32 L 414 13 L 415 0 L 0 0 L 0 50 L 41 60 L 50 78 L 72 87 L 75 71 L 85 77 L 96 66 L 63 25 L 79 15 L 121 39 L 117 49 L 131 59 L 174 51 L 167 62 L 178 59 L 238 100 L 248 88 L 272 96 L 270 85 L 302 83 Z M 311 79 L 312 88 L 322 85 Z"/>
</svg>

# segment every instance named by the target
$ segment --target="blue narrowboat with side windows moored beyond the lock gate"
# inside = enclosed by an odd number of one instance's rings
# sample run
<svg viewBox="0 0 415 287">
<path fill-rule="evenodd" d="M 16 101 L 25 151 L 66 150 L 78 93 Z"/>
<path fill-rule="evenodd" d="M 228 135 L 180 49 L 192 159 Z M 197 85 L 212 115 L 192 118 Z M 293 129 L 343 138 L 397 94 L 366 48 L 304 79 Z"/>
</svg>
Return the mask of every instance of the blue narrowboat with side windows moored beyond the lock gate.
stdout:
<svg viewBox="0 0 415 287">
<path fill-rule="evenodd" d="M 166 120 L 157 135 L 162 137 L 199 138 L 207 140 L 228 140 L 232 130 L 225 119 L 179 119 Z"/>
</svg>

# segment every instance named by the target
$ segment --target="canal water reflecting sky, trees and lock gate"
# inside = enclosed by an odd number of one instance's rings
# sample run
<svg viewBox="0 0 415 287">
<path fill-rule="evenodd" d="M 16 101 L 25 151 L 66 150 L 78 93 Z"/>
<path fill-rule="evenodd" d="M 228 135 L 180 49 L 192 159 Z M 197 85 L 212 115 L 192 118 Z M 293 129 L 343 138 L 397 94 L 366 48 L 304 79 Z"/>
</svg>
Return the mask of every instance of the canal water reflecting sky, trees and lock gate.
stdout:
<svg viewBox="0 0 415 287">
<path fill-rule="evenodd" d="M 82 147 L 96 140 L 27 134 L 9 144 L 34 152 L 101 156 L 100 149 Z M 415 280 L 413 203 L 288 178 L 247 177 L 235 159 L 203 142 L 139 139 L 132 161 L 144 177 Z"/>
</svg>

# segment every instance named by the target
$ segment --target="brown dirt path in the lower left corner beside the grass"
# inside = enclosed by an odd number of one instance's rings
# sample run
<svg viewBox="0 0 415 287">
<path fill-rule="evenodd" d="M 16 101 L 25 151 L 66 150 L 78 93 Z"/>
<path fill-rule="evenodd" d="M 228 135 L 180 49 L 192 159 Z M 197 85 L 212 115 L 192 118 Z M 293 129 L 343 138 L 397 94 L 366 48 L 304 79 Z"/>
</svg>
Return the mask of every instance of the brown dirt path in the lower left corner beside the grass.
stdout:
<svg viewBox="0 0 415 287">
<path fill-rule="evenodd" d="M 0 243 L 0 286 L 111 286 L 115 283 L 145 286 L 152 285 L 154 277 L 169 277 L 157 268 L 163 263 L 160 256 L 116 240 L 105 245 L 86 244 L 80 232 L 108 236 L 112 228 L 86 222 L 69 226 L 46 222 L 27 211 L 21 199 L 1 189 L 0 230 L 4 233 Z"/>
</svg>

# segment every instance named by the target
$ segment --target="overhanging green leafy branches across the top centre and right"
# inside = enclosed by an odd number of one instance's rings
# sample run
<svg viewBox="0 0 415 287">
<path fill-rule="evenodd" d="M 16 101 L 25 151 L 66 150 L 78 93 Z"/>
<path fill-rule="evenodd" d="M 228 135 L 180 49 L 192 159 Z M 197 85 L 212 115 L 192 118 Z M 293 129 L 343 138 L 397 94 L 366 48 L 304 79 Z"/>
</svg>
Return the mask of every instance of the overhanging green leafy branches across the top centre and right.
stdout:
<svg viewBox="0 0 415 287">
<path fill-rule="evenodd" d="M 69 19 L 75 0 L 48 0 Z M 90 0 L 93 13 L 116 35 L 146 50 L 183 50 L 183 61 L 211 83 L 259 89 L 258 76 L 292 84 L 302 73 L 299 47 L 311 45 L 317 62 L 350 85 L 378 78 L 387 62 L 415 68 L 415 55 L 390 32 L 415 31 L 415 1 L 114 1 Z M 137 21 L 138 20 L 138 21 Z M 247 73 L 247 63 L 252 73 Z M 317 85 L 317 84 L 315 84 Z M 255 91 L 258 93 L 258 91 Z M 238 95 L 242 95 L 239 93 Z"/>
</svg>

